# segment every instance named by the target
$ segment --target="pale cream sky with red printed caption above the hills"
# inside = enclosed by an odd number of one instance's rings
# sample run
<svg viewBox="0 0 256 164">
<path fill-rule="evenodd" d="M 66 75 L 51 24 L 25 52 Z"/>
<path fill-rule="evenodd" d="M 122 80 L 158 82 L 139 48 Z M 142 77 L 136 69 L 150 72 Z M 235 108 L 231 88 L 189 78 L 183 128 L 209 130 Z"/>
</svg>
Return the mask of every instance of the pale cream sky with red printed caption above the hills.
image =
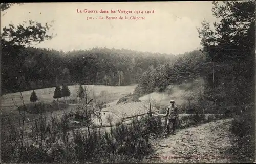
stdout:
<svg viewBox="0 0 256 164">
<path fill-rule="evenodd" d="M 35 47 L 62 51 L 106 47 L 182 54 L 200 47 L 197 28 L 201 27 L 203 19 L 211 24 L 218 21 L 212 16 L 211 8 L 211 1 L 24 3 L 6 10 L 5 15 L 1 13 L 1 29 L 24 20 L 42 24 L 54 20 L 54 29 L 49 34 L 57 35 Z M 98 13 L 85 13 L 84 9 Z M 99 13 L 101 9 L 109 13 Z M 110 13 L 110 10 L 116 13 Z M 133 13 L 118 13 L 118 10 Z M 136 14 L 136 11 L 144 13 Z M 145 14 L 145 11 L 152 13 Z M 108 20 L 106 16 L 118 19 Z M 94 19 L 88 20 L 88 17 Z M 136 21 L 131 17 L 145 19 Z"/>
</svg>

